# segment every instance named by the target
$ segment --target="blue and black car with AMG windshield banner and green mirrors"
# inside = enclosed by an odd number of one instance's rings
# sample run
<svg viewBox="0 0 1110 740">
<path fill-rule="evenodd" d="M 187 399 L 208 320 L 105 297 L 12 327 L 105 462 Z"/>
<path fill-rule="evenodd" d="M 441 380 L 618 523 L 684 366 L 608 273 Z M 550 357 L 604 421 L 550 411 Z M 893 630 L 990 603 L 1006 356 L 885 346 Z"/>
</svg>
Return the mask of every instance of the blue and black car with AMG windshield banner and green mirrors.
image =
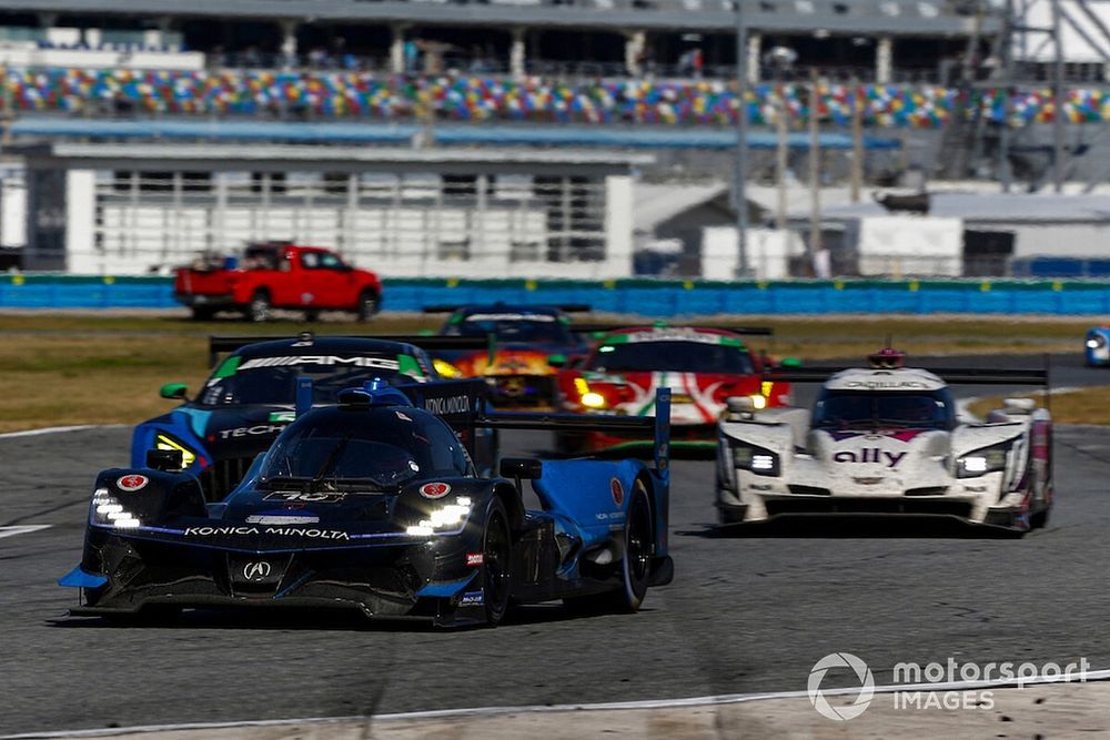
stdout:
<svg viewBox="0 0 1110 740">
<path fill-rule="evenodd" d="M 183 467 L 200 477 L 208 499 L 220 500 L 293 420 L 297 377 L 313 379 L 314 404 L 331 404 L 339 391 L 374 378 L 393 385 L 438 379 L 425 347 L 485 344 L 483 338 L 313 336 L 310 332 L 282 338 L 211 337 L 211 377 L 192 398 L 183 384 L 162 386 L 163 398 L 184 403 L 135 427 L 131 465 L 143 465 L 151 449 L 178 450 Z"/>
</svg>

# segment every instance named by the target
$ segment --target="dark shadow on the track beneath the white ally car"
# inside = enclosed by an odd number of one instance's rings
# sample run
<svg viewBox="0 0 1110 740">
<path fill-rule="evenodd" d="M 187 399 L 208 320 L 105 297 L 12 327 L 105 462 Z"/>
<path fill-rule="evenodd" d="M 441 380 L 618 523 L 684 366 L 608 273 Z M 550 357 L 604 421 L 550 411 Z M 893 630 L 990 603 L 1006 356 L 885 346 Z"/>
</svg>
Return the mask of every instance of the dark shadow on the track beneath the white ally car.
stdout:
<svg viewBox="0 0 1110 740">
<path fill-rule="evenodd" d="M 790 516 L 770 521 L 710 525 L 676 531 L 680 537 L 720 538 L 864 538 L 864 539 L 1020 539 L 1023 533 L 972 525 L 944 517 Z"/>
</svg>

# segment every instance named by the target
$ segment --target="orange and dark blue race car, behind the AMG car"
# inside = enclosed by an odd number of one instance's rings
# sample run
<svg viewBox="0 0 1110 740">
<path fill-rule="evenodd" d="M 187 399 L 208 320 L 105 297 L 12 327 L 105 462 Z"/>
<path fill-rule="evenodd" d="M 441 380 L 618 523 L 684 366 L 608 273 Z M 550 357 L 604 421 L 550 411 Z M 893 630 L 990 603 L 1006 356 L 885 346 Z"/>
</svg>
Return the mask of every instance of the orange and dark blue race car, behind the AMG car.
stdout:
<svg viewBox="0 0 1110 740">
<path fill-rule="evenodd" d="M 524 306 L 494 303 L 467 306 L 427 306 L 425 313 L 451 313 L 441 336 L 493 341 L 482 351 L 435 353 L 443 377 L 480 377 L 491 388 L 496 406 L 551 407 L 555 399 L 552 355 L 576 355 L 588 349 L 586 341 L 571 330 L 567 313 L 587 312 L 589 306 Z"/>
</svg>

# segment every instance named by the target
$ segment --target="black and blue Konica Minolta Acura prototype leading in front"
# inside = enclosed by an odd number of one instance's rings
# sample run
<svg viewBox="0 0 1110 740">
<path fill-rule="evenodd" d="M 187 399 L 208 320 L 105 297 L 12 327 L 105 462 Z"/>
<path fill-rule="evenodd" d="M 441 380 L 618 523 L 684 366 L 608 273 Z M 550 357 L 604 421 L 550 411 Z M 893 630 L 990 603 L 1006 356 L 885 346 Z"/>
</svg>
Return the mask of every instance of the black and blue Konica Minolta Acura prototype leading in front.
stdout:
<svg viewBox="0 0 1110 740">
<path fill-rule="evenodd" d="M 674 574 L 667 393 L 654 419 L 486 415 L 485 393 L 480 381 L 345 391 L 299 416 L 218 504 L 178 450 L 104 470 L 81 564 L 59 581 L 80 589 L 71 615 L 303 607 L 455 626 L 555 599 L 638 609 Z M 447 420 L 654 433 L 655 463 L 505 459 L 485 477 Z M 525 508 L 525 479 L 542 509 Z"/>
</svg>

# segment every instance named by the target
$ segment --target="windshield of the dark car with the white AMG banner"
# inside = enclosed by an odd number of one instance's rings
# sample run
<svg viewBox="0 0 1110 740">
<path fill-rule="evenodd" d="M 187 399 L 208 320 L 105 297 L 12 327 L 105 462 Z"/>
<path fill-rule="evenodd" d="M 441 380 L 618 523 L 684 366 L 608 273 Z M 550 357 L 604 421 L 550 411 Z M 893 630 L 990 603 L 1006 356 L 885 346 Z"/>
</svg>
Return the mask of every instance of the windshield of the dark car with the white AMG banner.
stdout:
<svg viewBox="0 0 1110 740">
<path fill-rule="evenodd" d="M 232 358 L 229 358 L 232 359 Z M 286 358 L 278 358 L 286 359 Z M 384 363 L 383 363 L 384 364 Z M 393 362 L 395 365 L 396 362 Z M 246 366 L 244 368 L 244 366 Z M 204 384 L 196 403 L 202 406 L 292 405 L 296 401 L 296 378 L 312 378 L 312 401 L 316 404 L 335 403 L 335 394 L 344 388 L 362 386 L 367 381 L 381 378 L 390 385 L 412 383 L 413 378 L 398 369 L 359 367 L 346 364 L 286 366 L 255 365 L 244 362 L 232 374 L 224 366 Z"/>
</svg>

